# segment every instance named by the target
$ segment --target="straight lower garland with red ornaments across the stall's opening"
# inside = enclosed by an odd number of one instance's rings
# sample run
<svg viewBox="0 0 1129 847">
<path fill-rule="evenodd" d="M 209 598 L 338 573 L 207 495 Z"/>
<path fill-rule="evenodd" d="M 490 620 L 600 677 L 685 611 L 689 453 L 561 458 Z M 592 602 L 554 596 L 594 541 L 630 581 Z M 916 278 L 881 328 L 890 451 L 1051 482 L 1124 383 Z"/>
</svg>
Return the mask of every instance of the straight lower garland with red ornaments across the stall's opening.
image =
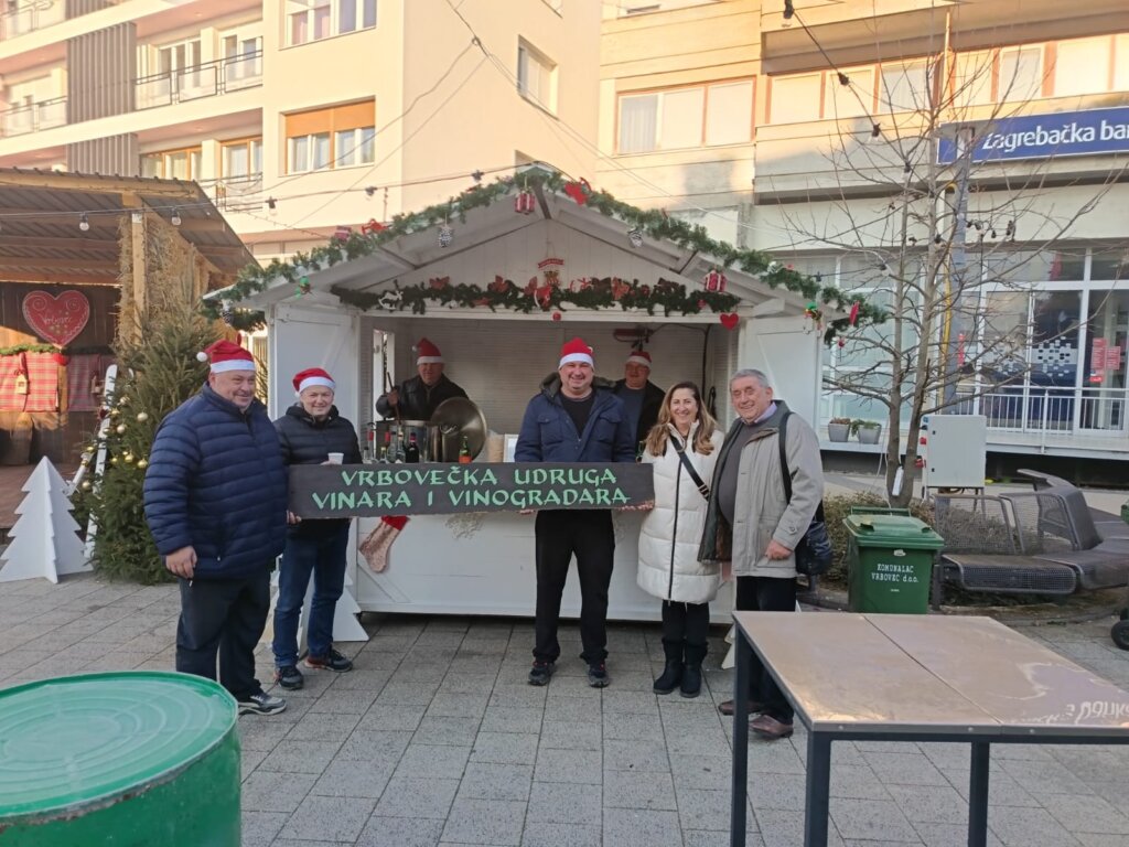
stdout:
<svg viewBox="0 0 1129 847">
<path fill-rule="evenodd" d="M 353 291 L 334 287 L 331 289 L 342 303 L 361 309 L 379 308 L 386 312 L 405 312 L 422 315 L 427 312 L 428 302 L 440 306 L 455 305 L 467 308 L 484 306 L 491 312 L 499 308 L 530 314 L 534 311 L 566 311 L 566 304 L 577 308 L 612 308 L 619 306 L 645 308 L 647 314 L 663 309 L 664 315 L 681 312 L 685 315 L 697 315 L 703 308 L 712 312 L 730 312 L 737 307 L 739 299 L 732 294 L 717 291 L 688 292 L 681 282 L 660 279 L 654 287 L 641 285 L 639 280 L 604 277 L 589 278 L 579 289 L 559 286 L 539 286 L 536 282 L 519 287 L 511 280 L 496 277 L 485 288 L 466 283 L 452 285 L 446 277 L 420 282 L 415 286 L 393 288 L 380 294 Z"/>
</svg>

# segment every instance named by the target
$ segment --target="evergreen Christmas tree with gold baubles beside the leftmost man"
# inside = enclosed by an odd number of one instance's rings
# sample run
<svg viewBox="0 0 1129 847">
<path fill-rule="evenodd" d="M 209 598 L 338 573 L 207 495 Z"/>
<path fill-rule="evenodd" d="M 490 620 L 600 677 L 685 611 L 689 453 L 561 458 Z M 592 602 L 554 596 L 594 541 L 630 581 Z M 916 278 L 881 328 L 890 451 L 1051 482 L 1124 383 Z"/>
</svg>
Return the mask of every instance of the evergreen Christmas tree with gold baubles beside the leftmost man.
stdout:
<svg viewBox="0 0 1129 847">
<path fill-rule="evenodd" d="M 146 585 L 172 578 L 145 521 L 145 469 L 157 426 L 207 379 L 208 366 L 196 352 L 217 338 L 213 324 L 185 305 L 149 321 L 139 341 L 119 344 L 117 383 L 107 401 L 106 464 L 80 491 L 97 525 L 93 561 L 98 573 Z"/>
</svg>

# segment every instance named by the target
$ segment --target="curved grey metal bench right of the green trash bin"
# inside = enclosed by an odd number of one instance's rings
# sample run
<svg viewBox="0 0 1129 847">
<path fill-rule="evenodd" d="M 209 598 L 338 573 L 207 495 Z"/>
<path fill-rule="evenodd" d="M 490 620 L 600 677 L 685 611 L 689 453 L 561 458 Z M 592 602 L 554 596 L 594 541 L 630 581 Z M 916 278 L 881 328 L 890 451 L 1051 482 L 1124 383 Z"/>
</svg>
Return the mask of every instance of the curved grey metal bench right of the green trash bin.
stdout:
<svg viewBox="0 0 1129 847">
<path fill-rule="evenodd" d="M 1058 484 L 1059 482 L 1064 484 Z M 1068 595 L 1129 585 L 1129 539 L 1103 539 L 1080 490 L 1050 477 L 1031 492 L 940 495 L 935 582 L 999 594 Z"/>
</svg>

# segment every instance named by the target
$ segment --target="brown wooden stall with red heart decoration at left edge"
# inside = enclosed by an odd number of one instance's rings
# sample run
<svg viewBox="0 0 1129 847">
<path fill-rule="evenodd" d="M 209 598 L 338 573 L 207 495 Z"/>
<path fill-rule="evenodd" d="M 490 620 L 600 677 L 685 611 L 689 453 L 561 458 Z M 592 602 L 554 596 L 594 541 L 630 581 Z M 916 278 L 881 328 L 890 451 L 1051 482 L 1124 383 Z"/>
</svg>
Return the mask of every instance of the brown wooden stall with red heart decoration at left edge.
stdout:
<svg viewBox="0 0 1129 847">
<path fill-rule="evenodd" d="M 252 261 L 195 183 L 0 168 L 0 462 L 73 464 L 120 332 Z"/>
</svg>

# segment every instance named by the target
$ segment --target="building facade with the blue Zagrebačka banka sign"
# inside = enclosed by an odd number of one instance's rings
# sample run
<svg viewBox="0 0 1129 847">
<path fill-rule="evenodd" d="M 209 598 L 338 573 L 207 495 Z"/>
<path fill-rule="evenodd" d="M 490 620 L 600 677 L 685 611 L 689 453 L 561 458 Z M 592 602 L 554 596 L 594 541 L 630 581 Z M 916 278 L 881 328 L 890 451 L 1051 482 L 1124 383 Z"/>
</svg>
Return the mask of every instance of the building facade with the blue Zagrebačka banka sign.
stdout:
<svg viewBox="0 0 1129 847">
<path fill-rule="evenodd" d="M 894 273 L 959 246 L 979 316 L 959 357 L 977 366 L 949 408 L 988 417 L 990 451 L 1129 457 L 1122 3 L 623 0 L 605 10 L 601 95 L 602 184 L 639 204 L 886 306 Z M 747 132 L 717 132 L 723 111 Z M 939 141 L 957 137 L 977 145 L 963 172 Z M 931 217 L 929 178 L 949 197 Z M 881 386 L 884 356 L 832 344 L 824 374 Z M 885 410 L 828 390 L 821 417 Z"/>
</svg>

